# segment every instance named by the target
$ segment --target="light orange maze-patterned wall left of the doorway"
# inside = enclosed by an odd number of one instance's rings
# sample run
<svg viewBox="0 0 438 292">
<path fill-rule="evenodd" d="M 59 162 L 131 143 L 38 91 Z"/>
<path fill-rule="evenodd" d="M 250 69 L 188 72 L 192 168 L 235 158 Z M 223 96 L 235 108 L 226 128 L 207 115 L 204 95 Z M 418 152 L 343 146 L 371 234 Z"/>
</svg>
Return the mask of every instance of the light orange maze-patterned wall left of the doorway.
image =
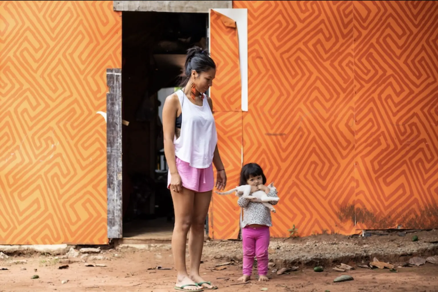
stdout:
<svg viewBox="0 0 438 292">
<path fill-rule="evenodd" d="M 0 2 L 0 244 L 105 244 L 113 1 Z"/>
</svg>

